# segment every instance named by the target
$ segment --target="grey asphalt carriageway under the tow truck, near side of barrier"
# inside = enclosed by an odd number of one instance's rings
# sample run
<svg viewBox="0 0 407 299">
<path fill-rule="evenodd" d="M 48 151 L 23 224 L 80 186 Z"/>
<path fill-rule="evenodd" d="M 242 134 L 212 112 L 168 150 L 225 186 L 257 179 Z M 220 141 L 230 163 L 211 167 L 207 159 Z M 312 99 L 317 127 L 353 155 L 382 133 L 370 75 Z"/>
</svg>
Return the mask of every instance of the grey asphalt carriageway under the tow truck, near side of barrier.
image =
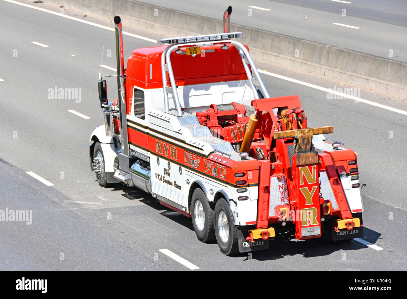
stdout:
<svg viewBox="0 0 407 299">
<path fill-rule="evenodd" d="M 365 234 L 360 242 L 323 246 L 281 234 L 267 251 L 228 257 L 217 244 L 197 240 L 190 218 L 148 194 L 96 182 L 88 144 L 103 124 L 96 82 L 99 65 L 115 68 L 113 31 L 0 1 L 0 39 L 0 210 L 32 211 L 31 224 L 0 222 L 0 270 L 406 269 L 406 115 L 328 100 L 321 90 L 263 75 L 271 96 L 300 95 L 309 126 L 333 125 L 330 137 L 358 153 L 361 182 L 368 184 Z M 125 57 L 153 45 L 124 35 Z M 114 85 L 108 85 L 112 100 Z M 55 86 L 77 88 L 78 97 L 54 99 Z"/>
</svg>

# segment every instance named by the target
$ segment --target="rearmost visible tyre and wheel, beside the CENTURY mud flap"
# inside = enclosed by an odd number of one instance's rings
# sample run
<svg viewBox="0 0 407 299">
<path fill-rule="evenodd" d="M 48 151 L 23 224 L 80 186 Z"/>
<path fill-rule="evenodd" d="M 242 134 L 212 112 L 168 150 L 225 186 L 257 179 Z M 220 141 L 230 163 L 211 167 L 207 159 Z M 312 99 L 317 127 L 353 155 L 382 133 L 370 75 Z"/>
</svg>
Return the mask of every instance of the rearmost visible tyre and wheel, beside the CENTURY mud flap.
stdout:
<svg viewBox="0 0 407 299">
<path fill-rule="evenodd" d="M 239 252 L 237 229 L 234 225 L 232 211 L 225 199 L 219 199 L 215 205 L 215 236 L 219 249 L 225 255 Z"/>
</svg>

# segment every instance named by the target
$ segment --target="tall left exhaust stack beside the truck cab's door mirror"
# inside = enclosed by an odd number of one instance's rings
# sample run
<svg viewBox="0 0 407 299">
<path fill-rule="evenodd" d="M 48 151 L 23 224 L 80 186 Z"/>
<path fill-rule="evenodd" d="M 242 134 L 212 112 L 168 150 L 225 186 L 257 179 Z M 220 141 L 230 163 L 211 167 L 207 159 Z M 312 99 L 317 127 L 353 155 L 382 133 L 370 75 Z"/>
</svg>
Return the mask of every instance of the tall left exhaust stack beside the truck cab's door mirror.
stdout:
<svg viewBox="0 0 407 299">
<path fill-rule="evenodd" d="M 118 89 L 118 108 L 120 114 L 120 144 L 122 154 L 129 156 L 129 140 L 127 134 L 127 115 L 126 115 L 126 90 L 125 90 L 125 66 L 123 55 L 123 34 L 122 22 L 120 17 L 114 17 L 114 27 L 116 29 L 116 62 L 117 62 L 117 89 Z M 129 172 L 129 171 L 127 171 Z"/>
</svg>

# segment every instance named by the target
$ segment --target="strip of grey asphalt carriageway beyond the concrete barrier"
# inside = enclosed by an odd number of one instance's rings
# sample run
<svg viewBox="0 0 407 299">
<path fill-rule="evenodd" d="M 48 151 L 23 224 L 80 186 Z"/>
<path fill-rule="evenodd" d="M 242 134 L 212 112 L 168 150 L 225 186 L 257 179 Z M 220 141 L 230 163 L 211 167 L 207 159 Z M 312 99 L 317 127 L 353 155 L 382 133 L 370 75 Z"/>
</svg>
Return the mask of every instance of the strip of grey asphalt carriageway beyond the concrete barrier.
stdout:
<svg viewBox="0 0 407 299">
<path fill-rule="evenodd" d="M 407 62 L 405 0 L 137 1 Z"/>
</svg>

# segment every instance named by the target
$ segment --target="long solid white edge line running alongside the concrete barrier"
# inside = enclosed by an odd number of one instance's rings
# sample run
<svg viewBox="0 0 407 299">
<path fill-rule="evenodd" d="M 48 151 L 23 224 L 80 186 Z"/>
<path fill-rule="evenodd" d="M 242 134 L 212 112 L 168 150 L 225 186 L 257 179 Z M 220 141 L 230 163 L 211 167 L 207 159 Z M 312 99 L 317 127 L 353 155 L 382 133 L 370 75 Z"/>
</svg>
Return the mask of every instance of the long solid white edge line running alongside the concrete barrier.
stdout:
<svg viewBox="0 0 407 299">
<path fill-rule="evenodd" d="M 3 0 L 3 1 L 11 2 L 11 3 L 18 4 L 18 5 L 22 5 L 22 6 L 25 6 L 25 7 L 30 7 L 30 8 L 32 8 L 32 9 L 37 9 L 37 10 L 39 10 L 39 11 L 44 11 L 44 12 L 47 12 L 47 13 L 52 13 L 53 15 L 59 15 L 59 16 L 61 16 L 61 17 L 66 17 L 66 18 L 68 18 L 68 19 L 70 19 L 70 20 L 75 20 L 75 21 L 82 22 L 82 23 L 85 23 L 85 24 L 89 24 L 89 25 L 92 25 L 92 26 L 96 26 L 96 27 L 99 27 L 99 28 L 104 28 L 104 29 L 107 29 L 107 30 L 110 30 L 110 31 L 114 31 L 113 28 L 110 28 L 110 27 L 107 27 L 107 26 L 103 26 L 103 25 L 99 25 L 99 24 L 96 24 L 96 23 L 92 23 L 92 22 L 89 22 L 89 21 L 81 20 L 81 19 L 78 19 L 78 18 L 76 18 L 76 17 L 70 17 L 70 16 L 68 16 L 68 15 L 62 15 L 62 14 L 56 13 L 56 12 L 54 12 L 54 11 L 49 11 L 48 9 L 42 9 L 42 8 L 40 8 L 40 7 L 33 7 L 33 6 L 31 6 L 31 5 L 24 4 L 24 3 L 20 3 L 20 2 L 15 2 L 15 1 L 13 1 L 13 0 Z M 134 34 L 131 34 L 131 33 L 125 33 L 125 32 L 123 32 L 123 34 L 127 34 L 127 35 L 129 35 L 129 36 L 133 36 L 133 37 L 136 37 L 136 38 L 139 38 L 139 39 L 143 39 L 143 40 L 146 40 L 146 41 L 151 41 L 151 42 L 157 44 L 157 41 L 154 40 L 154 39 L 150 39 L 150 38 L 147 38 L 147 37 L 142 37 L 142 36 L 140 36 L 140 35 L 134 35 Z M 283 80 L 291 81 L 291 82 L 293 82 L 293 83 L 305 85 L 305 86 L 312 87 L 312 88 L 315 88 L 315 89 L 319 89 L 319 90 L 322 90 L 322 91 L 325 91 L 325 92 L 330 92 L 330 93 L 332 93 L 332 94 L 337 94 L 337 95 L 339 95 L 339 96 L 344 96 L 344 97 L 346 97 L 346 98 L 350 98 L 350 99 L 352 99 L 352 100 L 357 100 L 357 101 L 362 102 L 362 103 L 365 103 L 365 104 L 373 105 L 373 106 L 376 106 L 376 107 L 379 107 L 379 108 L 387 109 L 387 110 L 389 110 L 389 111 L 393 111 L 393 112 L 396 112 L 396 113 L 400 113 L 400 114 L 407 115 L 407 111 L 403 111 L 403 110 L 396 109 L 396 108 L 393 108 L 393 107 L 389 107 L 389 106 L 386 106 L 386 105 L 374 103 L 374 102 L 369 101 L 369 100 L 365 100 L 365 99 L 362 99 L 362 98 L 357 98 L 356 96 L 348 96 L 347 94 L 344 94 L 344 93 L 341 93 L 341 92 L 333 91 L 333 90 L 331 90 L 331 89 L 324 88 L 324 87 L 320 87 L 320 86 L 313 85 L 313 84 L 310 84 L 310 83 L 306 83 L 306 82 L 303 82 L 303 81 L 291 79 L 291 78 L 286 77 L 286 76 L 281 76 L 281 75 L 278 75 L 278 74 L 274 74 L 274 73 L 266 72 L 266 71 L 262 71 L 262 70 L 258 70 L 258 71 L 261 72 L 261 73 L 263 73 L 263 74 L 267 74 L 267 75 L 270 75 L 270 76 L 274 76 L 274 77 L 276 77 L 276 78 L 280 78 L 280 79 L 283 79 Z"/>
</svg>

